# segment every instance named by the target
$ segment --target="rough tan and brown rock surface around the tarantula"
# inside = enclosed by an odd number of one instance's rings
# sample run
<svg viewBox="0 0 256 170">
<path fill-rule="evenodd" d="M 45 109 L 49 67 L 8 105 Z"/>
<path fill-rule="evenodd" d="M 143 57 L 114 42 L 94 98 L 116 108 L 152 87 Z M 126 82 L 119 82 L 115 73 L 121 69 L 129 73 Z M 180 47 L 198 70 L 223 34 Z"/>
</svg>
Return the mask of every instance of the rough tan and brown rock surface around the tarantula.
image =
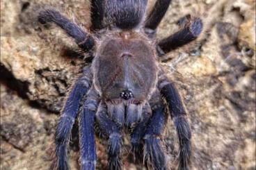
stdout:
<svg viewBox="0 0 256 170">
<path fill-rule="evenodd" d="M 152 8 L 154 1 L 150 1 Z M 1 169 L 49 169 L 54 128 L 72 79 L 84 65 L 77 45 L 56 28 L 36 22 L 43 6 L 55 6 L 90 25 L 90 1 L 1 1 Z M 185 15 L 202 17 L 204 33 L 168 53 L 163 65 L 179 88 L 193 132 L 192 169 L 255 169 L 255 1 L 173 0 L 157 37 L 177 31 Z M 74 128 L 72 169 L 79 169 Z M 177 165 L 177 137 L 166 129 L 170 169 Z M 97 166 L 106 167 L 97 141 Z M 125 157 L 125 156 L 124 156 Z M 124 160 L 126 169 L 135 167 Z"/>
</svg>

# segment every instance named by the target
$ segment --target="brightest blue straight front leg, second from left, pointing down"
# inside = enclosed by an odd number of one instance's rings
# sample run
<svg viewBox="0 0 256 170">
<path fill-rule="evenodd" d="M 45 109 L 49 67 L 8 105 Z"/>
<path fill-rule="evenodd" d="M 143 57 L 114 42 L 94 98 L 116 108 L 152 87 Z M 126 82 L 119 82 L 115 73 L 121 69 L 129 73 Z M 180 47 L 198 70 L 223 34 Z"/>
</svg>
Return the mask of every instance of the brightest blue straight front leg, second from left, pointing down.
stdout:
<svg viewBox="0 0 256 170">
<path fill-rule="evenodd" d="M 79 147 L 81 170 L 95 170 L 96 168 L 96 144 L 95 144 L 95 113 L 97 111 L 97 93 L 90 90 L 79 119 Z"/>
</svg>

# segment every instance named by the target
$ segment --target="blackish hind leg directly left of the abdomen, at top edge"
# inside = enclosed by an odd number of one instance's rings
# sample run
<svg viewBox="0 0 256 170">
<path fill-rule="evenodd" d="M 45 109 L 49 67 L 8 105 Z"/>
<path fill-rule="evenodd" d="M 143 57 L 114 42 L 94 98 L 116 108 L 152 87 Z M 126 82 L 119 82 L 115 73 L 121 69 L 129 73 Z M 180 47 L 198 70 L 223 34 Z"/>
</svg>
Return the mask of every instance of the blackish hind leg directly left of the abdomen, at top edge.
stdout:
<svg viewBox="0 0 256 170">
<path fill-rule="evenodd" d="M 90 26 L 90 30 L 99 30 L 103 27 L 103 18 L 104 18 L 104 0 L 94 0 L 91 1 L 91 15 L 90 21 L 92 22 L 92 26 Z"/>
</svg>

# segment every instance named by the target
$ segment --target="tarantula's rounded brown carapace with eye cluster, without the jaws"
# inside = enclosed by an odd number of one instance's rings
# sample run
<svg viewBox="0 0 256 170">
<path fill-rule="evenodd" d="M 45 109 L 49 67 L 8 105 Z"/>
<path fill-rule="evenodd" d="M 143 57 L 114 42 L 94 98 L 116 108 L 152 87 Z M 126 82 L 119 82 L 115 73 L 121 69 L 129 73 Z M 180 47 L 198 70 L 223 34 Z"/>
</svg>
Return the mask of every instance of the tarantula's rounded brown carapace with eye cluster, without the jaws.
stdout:
<svg viewBox="0 0 256 170">
<path fill-rule="evenodd" d="M 157 58 L 152 44 L 143 41 L 136 32 L 115 36 L 103 40 L 96 56 L 95 76 L 102 96 L 145 101 L 157 79 Z"/>
</svg>

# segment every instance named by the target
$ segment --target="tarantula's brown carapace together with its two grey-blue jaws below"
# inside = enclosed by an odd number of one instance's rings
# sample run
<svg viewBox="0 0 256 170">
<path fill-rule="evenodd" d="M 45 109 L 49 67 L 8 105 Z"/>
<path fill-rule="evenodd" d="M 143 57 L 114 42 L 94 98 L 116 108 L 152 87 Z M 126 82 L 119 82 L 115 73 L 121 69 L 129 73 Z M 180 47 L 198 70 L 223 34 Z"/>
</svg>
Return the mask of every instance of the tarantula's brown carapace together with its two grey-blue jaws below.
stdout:
<svg viewBox="0 0 256 170">
<path fill-rule="evenodd" d="M 152 44 L 134 31 L 115 31 L 99 41 L 93 68 L 95 89 L 109 117 L 118 125 L 134 126 L 157 84 Z"/>
</svg>

